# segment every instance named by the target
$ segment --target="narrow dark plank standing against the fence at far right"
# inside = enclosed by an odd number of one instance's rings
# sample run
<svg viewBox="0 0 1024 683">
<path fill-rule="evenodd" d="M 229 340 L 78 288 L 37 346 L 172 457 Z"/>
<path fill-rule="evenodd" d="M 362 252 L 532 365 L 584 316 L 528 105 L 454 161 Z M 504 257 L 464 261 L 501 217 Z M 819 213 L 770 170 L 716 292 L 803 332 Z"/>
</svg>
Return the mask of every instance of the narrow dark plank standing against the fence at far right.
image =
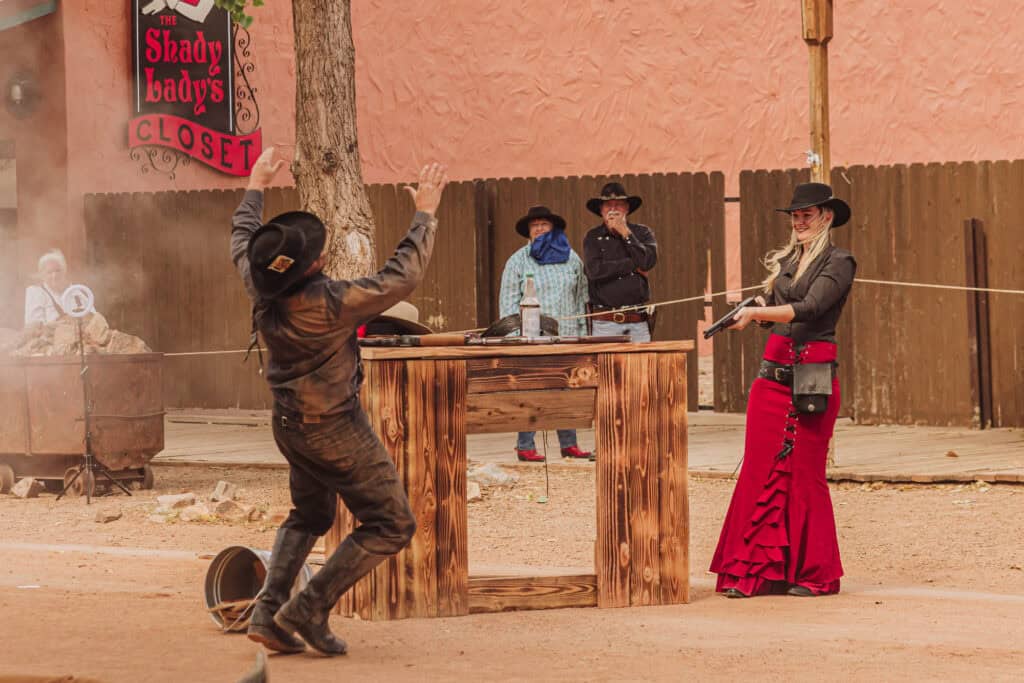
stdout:
<svg viewBox="0 0 1024 683">
<path fill-rule="evenodd" d="M 968 287 L 988 287 L 988 251 L 985 223 L 964 221 L 965 268 Z M 968 348 L 971 353 L 971 423 L 978 429 L 992 427 L 992 354 L 989 342 L 988 292 L 967 293 Z"/>
</svg>

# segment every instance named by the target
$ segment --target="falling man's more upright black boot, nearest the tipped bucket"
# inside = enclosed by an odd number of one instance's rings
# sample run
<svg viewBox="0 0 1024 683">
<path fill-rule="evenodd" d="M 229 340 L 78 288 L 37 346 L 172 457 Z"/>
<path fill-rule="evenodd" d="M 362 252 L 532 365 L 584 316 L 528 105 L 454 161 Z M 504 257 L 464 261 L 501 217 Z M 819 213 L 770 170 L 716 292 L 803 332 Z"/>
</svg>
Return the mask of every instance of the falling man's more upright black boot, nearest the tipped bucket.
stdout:
<svg viewBox="0 0 1024 683">
<path fill-rule="evenodd" d="M 263 593 L 249 621 L 249 640 L 286 654 L 302 652 L 306 646 L 301 640 L 273 623 L 273 615 L 292 594 L 292 584 L 302 569 L 306 556 L 316 543 L 316 537 L 291 528 L 278 529 L 278 538 L 270 551 L 270 566 L 266 570 Z"/>
</svg>

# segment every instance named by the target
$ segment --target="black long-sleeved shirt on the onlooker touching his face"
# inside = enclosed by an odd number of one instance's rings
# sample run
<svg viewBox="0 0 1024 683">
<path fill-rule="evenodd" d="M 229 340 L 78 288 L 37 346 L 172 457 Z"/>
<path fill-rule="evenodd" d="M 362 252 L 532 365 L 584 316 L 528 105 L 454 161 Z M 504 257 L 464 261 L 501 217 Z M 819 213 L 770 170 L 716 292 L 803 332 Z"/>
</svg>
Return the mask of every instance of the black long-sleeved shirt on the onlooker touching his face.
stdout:
<svg viewBox="0 0 1024 683">
<path fill-rule="evenodd" d="M 603 223 L 591 228 L 583 240 L 584 270 L 587 272 L 591 305 L 621 308 L 647 303 L 647 278 L 637 272 L 657 263 L 654 230 L 646 225 L 627 223 L 632 232 L 618 237 Z"/>
</svg>

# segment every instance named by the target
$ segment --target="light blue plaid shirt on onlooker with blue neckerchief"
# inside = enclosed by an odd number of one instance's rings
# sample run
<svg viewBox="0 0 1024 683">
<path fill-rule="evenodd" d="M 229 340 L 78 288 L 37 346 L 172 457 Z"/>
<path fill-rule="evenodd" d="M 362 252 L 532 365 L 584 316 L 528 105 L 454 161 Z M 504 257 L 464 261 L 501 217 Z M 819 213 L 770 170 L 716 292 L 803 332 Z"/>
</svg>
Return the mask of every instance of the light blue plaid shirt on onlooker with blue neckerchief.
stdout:
<svg viewBox="0 0 1024 683">
<path fill-rule="evenodd" d="M 519 312 L 519 301 L 526 286 L 526 274 L 532 273 L 537 296 L 541 300 L 541 313 L 555 319 L 587 312 L 587 275 L 583 261 L 574 251 L 569 252 L 565 263 L 542 265 L 529 255 L 529 244 L 516 251 L 505 262 L 502 273 L 502 291 L 498 298 L 502 317 Z M 558 334 L 575 337 L 587 334 L 587 321 L 558 319 Z"/>
</svg>

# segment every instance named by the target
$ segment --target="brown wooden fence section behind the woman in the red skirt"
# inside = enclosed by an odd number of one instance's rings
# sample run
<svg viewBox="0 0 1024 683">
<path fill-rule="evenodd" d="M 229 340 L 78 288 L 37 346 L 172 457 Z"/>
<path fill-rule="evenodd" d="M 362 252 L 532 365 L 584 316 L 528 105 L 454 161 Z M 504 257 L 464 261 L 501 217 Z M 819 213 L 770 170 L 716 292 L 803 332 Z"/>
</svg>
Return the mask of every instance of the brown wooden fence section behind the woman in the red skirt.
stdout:
<svg viewBox="0 0 1024 683">
<path fill-rule="evenodd" d="M 783 215 L 807 171 L 740 174 L 742 282 L 764 276 L 758 259 L 787 238 Z M 861 279 L 965 285 L 965 220 L 987 238 L 988 287 L 1024 289 L 1024 161 L 854 166 L 833 171 L 853 218 L 837 229 Z M 862 423 L 972 425 L 970 297 L 952 290 L 858 283 L 838 331 L 843 413 Z M 716 301 L 715 312 L 724 312 Z M 1024 296 L 988 297 L 992 425 L 1024 425 Z M 743 410 L 766 333 L 722 335 L 715 347 L 716 410 Z"/>
</svg>

